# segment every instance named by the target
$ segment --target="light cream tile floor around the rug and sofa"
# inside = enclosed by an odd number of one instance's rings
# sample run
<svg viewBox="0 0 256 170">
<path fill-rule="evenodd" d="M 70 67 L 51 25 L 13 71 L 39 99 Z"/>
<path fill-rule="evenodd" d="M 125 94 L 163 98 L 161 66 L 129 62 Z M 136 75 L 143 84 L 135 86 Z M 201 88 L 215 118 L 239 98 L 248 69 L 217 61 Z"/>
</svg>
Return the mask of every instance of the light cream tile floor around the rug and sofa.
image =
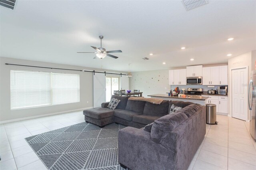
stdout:
<svg viewBox="0 0 256 170">
<path fill-rule="evenodd" d="M 256 142 L 250 124 L 217 115 L 218 125 L 206 125 L 204 141 L 188 170 L 256 170 Z M 1 170 L 46 170 L 24 138 L 84 122 L 82 111 L 0 125 Z"/>
</svg>

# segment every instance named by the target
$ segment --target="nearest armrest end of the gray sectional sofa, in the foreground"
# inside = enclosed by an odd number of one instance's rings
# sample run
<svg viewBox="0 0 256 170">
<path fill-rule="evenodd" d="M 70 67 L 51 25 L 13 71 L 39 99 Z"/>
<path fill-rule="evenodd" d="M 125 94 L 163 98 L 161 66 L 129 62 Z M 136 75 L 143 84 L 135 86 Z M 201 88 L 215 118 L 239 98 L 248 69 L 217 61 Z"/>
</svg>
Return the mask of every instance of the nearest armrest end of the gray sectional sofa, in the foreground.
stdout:
<svg viewBox="0 0 256 170">
<path fill-rule="evenodd" d="M 174 169 L 174 154 L 145 130 L 126 127 L 118 132 L 118 162 L 130 169 Z"/>
</svg>

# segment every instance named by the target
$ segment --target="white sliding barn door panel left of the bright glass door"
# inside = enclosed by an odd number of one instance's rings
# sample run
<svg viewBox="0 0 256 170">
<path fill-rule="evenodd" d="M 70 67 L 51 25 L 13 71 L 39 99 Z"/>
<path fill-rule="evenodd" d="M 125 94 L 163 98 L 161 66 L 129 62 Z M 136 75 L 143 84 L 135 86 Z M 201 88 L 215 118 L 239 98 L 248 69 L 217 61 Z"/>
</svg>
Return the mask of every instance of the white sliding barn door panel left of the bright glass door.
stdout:
<svg viewBox="0 0 256 170">
<path fill-rule="evenodd" d="M 106 76 L 102 73 L 95 73 L 93 76 L 93 107 L 101 107 L 106 102 Z"/>
</svg>

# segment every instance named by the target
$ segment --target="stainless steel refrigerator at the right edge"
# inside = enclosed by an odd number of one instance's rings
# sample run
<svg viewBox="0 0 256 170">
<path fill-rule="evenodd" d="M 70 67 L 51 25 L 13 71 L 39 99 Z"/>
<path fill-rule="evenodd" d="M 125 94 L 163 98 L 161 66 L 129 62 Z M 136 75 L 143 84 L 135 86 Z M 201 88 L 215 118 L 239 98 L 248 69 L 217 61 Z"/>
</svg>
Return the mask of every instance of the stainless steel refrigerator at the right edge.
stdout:
<svg viewBox="0 0 256 170">
<path fill-rule="evenodd" d="M 256 70 L 252 71 L 248 88 L 248 103 L 250 109 L 250 133 L 256 141 Z"/>
</svg>

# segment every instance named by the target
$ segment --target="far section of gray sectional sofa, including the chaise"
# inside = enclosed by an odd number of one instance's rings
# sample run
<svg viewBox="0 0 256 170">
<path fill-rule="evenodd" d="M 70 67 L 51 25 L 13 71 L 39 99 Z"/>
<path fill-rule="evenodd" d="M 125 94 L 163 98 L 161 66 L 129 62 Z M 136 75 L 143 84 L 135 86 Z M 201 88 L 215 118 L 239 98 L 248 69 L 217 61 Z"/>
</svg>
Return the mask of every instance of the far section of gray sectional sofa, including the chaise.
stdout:
<svg viewBox="0 0 256 170">
<path fill-rule="evenodd" d="M 84 110 L 86 122 L 104 127 L 110 123 L 120 123 L 122 125 L 142 128 L 156 119 L 167 115 L 169 101 L 162 101 L 160 105 L 155 105 L 145 101 L 128 100 L 129 97 L 112 95 L 112 98 L 120 100 L 116 109 L 107 108 L 108 103 L 102 103 L 101 108 Z M 190 103 L 191 104 L 191 103 Z"/>
</svg>

